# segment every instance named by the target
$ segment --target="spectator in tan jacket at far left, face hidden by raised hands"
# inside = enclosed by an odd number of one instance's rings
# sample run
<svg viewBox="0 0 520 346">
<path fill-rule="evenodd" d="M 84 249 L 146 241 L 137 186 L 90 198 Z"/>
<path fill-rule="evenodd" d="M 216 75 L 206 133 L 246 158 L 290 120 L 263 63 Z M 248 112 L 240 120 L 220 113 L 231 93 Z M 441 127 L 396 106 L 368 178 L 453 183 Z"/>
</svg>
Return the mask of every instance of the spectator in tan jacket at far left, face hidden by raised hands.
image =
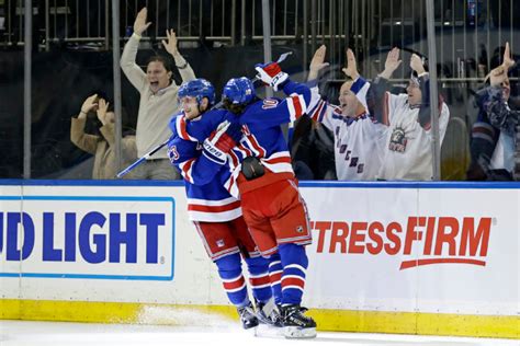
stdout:
<svg viewBox="0 0 520 346">
<path fill-rule="evenodd" d="M 95 112 L 102 126 L 99 129 L 100 135 L 84 132 L 87 115 Z M 92 178 L 115 178 L 118 171 L 115 162 L 115 135 L 114 135 L 114 112 L 109 112 L 109 103 L 99 99 L 98 94 L 91 95 L 84 100 L 81 105 L 81 112 L 77 117 L 72 117 L 70 124 L 70 140 L 79 149 L 94 155 L 94 166 L 92 169 Z M 137 159 L 135 146 L 135 136 L 126 135 L 121 140 L 122 164 L 131 164 Z M 125 178 L 133 178 L 129 174 Z"/>
</svg>

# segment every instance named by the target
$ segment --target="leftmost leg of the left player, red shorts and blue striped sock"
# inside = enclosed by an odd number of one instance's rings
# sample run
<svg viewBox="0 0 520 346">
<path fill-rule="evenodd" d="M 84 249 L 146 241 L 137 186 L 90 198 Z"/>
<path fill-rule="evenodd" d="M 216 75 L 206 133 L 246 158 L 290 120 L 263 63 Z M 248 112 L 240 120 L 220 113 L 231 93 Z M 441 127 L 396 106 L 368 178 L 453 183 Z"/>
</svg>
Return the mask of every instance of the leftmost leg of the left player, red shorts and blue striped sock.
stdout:
<svg viewBox="0 0 520 346">
<path fill-rule="evenodd" d="M 194 222 L 207 254 L 218 269 L 218 276 L 229 301 L 237 308 L 244 328 L 258 325 L 242 275 L 240 250 L 229 224 Z"/>
</svg>

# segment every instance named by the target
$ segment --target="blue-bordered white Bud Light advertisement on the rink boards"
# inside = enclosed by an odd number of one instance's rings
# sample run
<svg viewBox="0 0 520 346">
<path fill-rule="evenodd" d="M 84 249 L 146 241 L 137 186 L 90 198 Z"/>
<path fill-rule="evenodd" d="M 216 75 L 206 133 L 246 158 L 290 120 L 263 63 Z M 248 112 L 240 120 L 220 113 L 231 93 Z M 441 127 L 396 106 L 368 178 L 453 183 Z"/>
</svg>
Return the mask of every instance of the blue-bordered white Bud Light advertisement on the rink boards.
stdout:
<svg viewBox="0 0 520 346">
<path fill-rule="evenodd" d="M 171 197 L 0 196 L 0 277 L 172 280 Z"/>
</svg>

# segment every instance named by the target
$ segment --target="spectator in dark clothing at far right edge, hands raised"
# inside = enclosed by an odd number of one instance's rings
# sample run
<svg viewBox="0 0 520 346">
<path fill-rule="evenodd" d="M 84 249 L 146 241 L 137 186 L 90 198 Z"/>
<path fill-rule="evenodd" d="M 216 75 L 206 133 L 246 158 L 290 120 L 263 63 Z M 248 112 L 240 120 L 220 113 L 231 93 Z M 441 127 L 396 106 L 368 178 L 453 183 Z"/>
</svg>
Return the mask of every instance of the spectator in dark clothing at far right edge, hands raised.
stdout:
<svg viewBox="0 0 520 346">
<path fill-rule="evenodd" d="M 478 116 L 473 124 L 470 145 L 472 162 L 467 170 L 471 181 L 511 181 L 515 170 L 515 136 L 520 112 L 509 107 L 508 71 L 515 66 L 509 43 L 502 64 L 489 73 L 490 85 L 476 94 Z"/>
</svg>

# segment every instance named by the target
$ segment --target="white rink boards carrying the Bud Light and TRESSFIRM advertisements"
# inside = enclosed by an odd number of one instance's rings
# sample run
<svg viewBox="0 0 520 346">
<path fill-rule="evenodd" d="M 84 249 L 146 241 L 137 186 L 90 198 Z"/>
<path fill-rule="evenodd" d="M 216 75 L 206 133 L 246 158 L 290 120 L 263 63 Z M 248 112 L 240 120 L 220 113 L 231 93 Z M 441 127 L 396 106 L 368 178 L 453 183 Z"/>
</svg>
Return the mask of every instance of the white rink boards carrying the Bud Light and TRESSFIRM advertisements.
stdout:
<svg viewBox="0 0 520 346">
<path fill-rule="evenodd" d="M 8 305 L 227 304 L 188 220 L 181 183 L 45 184 L 0 186 L 0 287 Z M 490 318 L 490 335 L 518 337 L 517 187 L 303 183 L 314 229 L 304 304 L 332 313 L 337 330 L 351 330 L 361 314 L 416 321 L 432 314 Z M 500 334 L 505 321 L 513 330 Z"/>
</svg>

